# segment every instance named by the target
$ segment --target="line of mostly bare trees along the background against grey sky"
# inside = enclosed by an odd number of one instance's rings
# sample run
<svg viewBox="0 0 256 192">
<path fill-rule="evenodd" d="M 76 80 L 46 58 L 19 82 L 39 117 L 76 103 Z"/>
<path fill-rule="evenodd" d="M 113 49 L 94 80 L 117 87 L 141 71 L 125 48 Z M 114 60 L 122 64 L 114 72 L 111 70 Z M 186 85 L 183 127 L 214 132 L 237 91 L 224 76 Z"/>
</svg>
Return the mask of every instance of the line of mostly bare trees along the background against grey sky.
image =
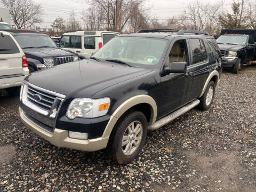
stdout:
<svg viewBox="0 0 256 192">
<path fill-rule="evenodd" d="M 0 0 L 10 10 L 12 22 L 17 28 L 29 28 L 43 22 L 43 8 L 33 0 Z M 86 1 L 88 3 L 88 1 Z M 225 1 L 215 3 L 196 0 L 171 18 L 154 17 L 146 0 L 89 0 L 90 7 L 77 13 L 69 12 L 69 18 L 58 17 L 51 24 L 56 35 L 66 30 L 110 30 L 135 33 L 139 29 L 190 29 L 219 34 L 221 28 L 256 29 L 255 0 L 234 0 L 231 10 Z M 171 8 L 171 7 L 170 7 Z M 80 17 L 76 17 L 80 15 Z M 117 22 L 116 22 L 117 20 Z"/>
</svg>

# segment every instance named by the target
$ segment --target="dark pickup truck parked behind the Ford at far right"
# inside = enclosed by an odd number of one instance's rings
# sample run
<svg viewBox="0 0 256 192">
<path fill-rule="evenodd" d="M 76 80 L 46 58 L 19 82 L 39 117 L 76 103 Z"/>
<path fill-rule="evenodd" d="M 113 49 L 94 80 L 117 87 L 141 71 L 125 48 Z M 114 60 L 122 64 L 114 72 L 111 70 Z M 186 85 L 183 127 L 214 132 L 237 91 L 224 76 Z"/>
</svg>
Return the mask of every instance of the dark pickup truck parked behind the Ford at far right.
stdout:
<svg viewBox="0 0 256 192">
<path fill-rule="evenodd" d="M 222 29 L 217 39 L 222 65 L 237 74 L 243 64 L 256 60 L 256 29 Z"/>
</svg>

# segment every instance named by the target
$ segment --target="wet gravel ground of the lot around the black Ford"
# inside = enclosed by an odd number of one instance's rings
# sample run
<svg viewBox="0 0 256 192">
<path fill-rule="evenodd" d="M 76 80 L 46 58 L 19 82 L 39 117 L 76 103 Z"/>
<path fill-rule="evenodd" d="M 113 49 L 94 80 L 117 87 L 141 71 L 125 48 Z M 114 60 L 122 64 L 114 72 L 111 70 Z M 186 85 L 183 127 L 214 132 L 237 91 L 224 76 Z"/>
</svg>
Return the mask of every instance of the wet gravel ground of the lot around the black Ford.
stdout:
<svg viewBox="0 0 256 192">
<path fill-rule="evenodd" d="M 131 164 L 52 146 L 0 97 L 0 191 L 255 191 L 256 66 L 224 72 L 208 111 L 148 133 Z M 0 94 L 1 95 L 1 94 Z"/>
</svg>

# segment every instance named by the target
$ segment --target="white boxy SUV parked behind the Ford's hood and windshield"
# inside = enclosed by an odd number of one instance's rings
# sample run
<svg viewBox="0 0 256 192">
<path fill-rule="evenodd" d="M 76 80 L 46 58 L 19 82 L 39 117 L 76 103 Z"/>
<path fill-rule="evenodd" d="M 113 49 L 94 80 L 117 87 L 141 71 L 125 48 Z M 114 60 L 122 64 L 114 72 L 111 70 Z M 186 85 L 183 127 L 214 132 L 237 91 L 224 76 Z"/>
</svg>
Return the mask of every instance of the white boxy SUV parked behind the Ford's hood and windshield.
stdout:
<svg viewBox="0 0 256 192">
<path fill-rule="evenodd" d="M 59 41 L 62 49 L 75 52 L 80 58 L 89 59 L 92 53 L 98 51 L 111 38 L 120 35 L 112 31 L 67 31 Z"/>
</svg>

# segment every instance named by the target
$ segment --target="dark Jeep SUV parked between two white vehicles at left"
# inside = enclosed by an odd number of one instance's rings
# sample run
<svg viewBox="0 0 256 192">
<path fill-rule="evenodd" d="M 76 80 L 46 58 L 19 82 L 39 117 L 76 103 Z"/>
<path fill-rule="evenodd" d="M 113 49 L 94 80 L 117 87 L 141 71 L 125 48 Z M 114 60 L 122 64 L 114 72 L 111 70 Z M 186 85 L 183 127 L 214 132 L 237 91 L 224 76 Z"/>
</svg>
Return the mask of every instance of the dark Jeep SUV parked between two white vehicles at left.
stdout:
<svg viewBox="0 0 256 192">
<path fill-rule="evenodd" d="M 23 29 L 5 31 L 12 34 L 25 53 L 29 73 L 79 59 L 76 53 L 60 49 L 49 35 Z"/>
</svg>

